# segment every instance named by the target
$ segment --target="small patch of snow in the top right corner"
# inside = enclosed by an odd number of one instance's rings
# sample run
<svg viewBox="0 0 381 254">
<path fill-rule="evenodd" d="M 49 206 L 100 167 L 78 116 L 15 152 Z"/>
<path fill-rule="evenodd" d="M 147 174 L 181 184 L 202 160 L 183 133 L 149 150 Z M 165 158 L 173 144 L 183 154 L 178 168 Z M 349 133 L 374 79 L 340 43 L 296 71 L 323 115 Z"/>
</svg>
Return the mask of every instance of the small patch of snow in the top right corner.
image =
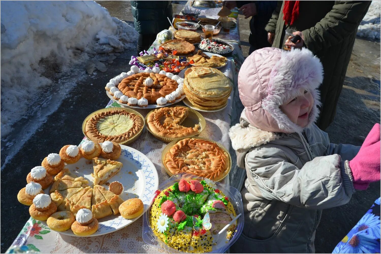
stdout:
<svg viewBox="0 0 381 254">
<path fill-rule="evenodd" d="M 367 14 L 360 23 L 357 36 L 365 37 L 370 40 L 380 40 L 380 1 L 372 1 Z"/>
</svg>

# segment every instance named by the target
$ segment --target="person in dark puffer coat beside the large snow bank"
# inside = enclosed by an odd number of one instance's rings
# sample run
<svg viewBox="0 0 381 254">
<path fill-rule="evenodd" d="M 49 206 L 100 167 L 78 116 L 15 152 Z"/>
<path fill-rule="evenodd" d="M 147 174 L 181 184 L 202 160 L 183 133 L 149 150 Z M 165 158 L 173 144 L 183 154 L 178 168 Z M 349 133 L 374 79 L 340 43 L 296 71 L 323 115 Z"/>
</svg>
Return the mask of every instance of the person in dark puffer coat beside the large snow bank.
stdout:
<svg viewBox="0 0 381 254">
<path fill-rule="evenodd" d="M 138 53 L 148 50 L 158 32 L 168 29 L 167 17 L 172 20 L 171 1 L 130 1 L 135 30 L 139 33 Z"/>
</svg>

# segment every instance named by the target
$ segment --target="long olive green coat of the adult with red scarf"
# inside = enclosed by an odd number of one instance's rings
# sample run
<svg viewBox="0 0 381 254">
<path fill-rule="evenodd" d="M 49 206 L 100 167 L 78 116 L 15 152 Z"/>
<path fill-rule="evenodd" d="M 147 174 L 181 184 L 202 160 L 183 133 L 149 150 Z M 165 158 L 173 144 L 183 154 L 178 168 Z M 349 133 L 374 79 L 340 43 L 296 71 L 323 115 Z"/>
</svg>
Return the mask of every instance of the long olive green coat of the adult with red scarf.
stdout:
<svg viewBox="0 0 381 254">
<path fill-rule="evenodd" d="M 368 11 L 371 1 L 300 1 L 299 18 L 292 26 L 283 20 L 284 1 L 278 6 L 265 27 L 275 33 L 275 48 L 282 48 L 285 30 L 301 31 L 304 46 L 322 62 L 324 80 L 320 86 L 322 107 L 316 125 L 324 130 L 335 117 L 336 104 L 343 88 L 345 73 L 357 33 L 357 27 Z"/>
</svg>

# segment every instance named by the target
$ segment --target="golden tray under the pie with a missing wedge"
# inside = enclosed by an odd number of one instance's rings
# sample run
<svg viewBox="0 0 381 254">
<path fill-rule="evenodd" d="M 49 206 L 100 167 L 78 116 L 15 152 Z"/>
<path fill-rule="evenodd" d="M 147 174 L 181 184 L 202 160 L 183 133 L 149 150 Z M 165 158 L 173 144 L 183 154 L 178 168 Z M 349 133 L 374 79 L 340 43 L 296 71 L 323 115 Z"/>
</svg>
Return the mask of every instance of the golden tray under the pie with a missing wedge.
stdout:
<svg viewBox="0 0 381 254">
<path fill-rule="evenodd" d="M 174 107 L 179 107 L 179 106 L 174 106 Z M 181 106 L 181 107 L 184 107 L 184 106 Z M 185 127 L 194 127 L 194 125 L 198 124 L 200 126 L 199 133 L 197 133 L 195 135 L 189 135 L 189 136 L 186 136 L 186 137 L 180 137 L 180 138 L 169 138 L 169 137 L 162 137 L 162 136 L 156 135 L 155 133 L 153 133 L 150 130 L 150 128 L 148 126 L 148 123 L 147 123 L 147 119 L 148 119 L 149 114 L 154 112 L 155 109 L 151 110 L 150 112 L 148 112 L 148 114 L 146 115 L 146 119 L 144 121 L 144 124 L 147 126 L 147 130 L 152 134 L 152 136 L 154 136 L 158 140 L 164 141 L 166 143 L 169 143 L 169 142 L 172 142 L 172 141 L 176 141 L 176 140 L 186 139 L 187 137 L 196 137 L 196 136 L 199 136 L 200 133 L 202 133 L 202 131 L 205 129 L 205 126 L 207 125 L 207 123 L 205 121 L 205 118 L 199 112 L 197 112 L 194 109 L 191 109 L 189 107 L 184 107 L 184 108 L 187 108 L 189 110 L 189 115 L 188 115 L 187 118 L 185 118 L 185 120 L 181 123 L 181 125 L 185 126 Z"/>
</svg>

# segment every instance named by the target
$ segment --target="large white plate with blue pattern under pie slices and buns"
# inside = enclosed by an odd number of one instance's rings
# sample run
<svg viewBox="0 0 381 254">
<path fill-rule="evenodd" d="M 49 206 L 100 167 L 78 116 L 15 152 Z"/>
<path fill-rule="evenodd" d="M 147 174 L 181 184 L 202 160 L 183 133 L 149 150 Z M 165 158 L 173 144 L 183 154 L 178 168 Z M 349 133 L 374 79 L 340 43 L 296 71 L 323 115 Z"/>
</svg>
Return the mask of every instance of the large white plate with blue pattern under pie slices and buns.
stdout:
<svg viewBox="0 0 381 254">
<path fill-rule="evenodd" d="M 111 177 L 107 182 L 118 181 L 123 184 L 124 191 L 119 196 L 123 200 L 140 198 L 144 204 L 144 211 L 147 211 L 150 205 L 152 193 L 157 190 L 159 184 L 155 165 L 149 160 L 149 158 L 147 158 L 146 155 L 138 150 L 125 145 L 120 145 L 120 147 L 122 148 L 122 153 L 117 161 L 123 163 L 123 167 L 120 169 L 118 174 Z M 88 164 L 87 162 L 88 160 L 82 157 L 77 163 L 68 164 L 65 167 L 77 176 L 85 177 L 89 183 L 92 184 L 93 177 L 91 176 L 91 173 L 94 173 L 93 163 Z M 108 190 L 106 184 L 103 184 L 103 186 Z M 49 189 L 50 188 L 45 190 L 47 194 L 49 194 Z M 140 216 L 142 216 L 142 214 Z M 135 220 L 139 219 L 140 216 L 134 219 L 124 219 L 120 214 L 118 214 L 98 219 L 98 230 L 89 236 L 104 235 L 115 232 L 130 225 Z M 42 224 L 47 226 L 46 221 L 42 221 Z M 63 235 L 77 236 L 74 235 L 71 229 L 59 233 Z"/>
</svg>

